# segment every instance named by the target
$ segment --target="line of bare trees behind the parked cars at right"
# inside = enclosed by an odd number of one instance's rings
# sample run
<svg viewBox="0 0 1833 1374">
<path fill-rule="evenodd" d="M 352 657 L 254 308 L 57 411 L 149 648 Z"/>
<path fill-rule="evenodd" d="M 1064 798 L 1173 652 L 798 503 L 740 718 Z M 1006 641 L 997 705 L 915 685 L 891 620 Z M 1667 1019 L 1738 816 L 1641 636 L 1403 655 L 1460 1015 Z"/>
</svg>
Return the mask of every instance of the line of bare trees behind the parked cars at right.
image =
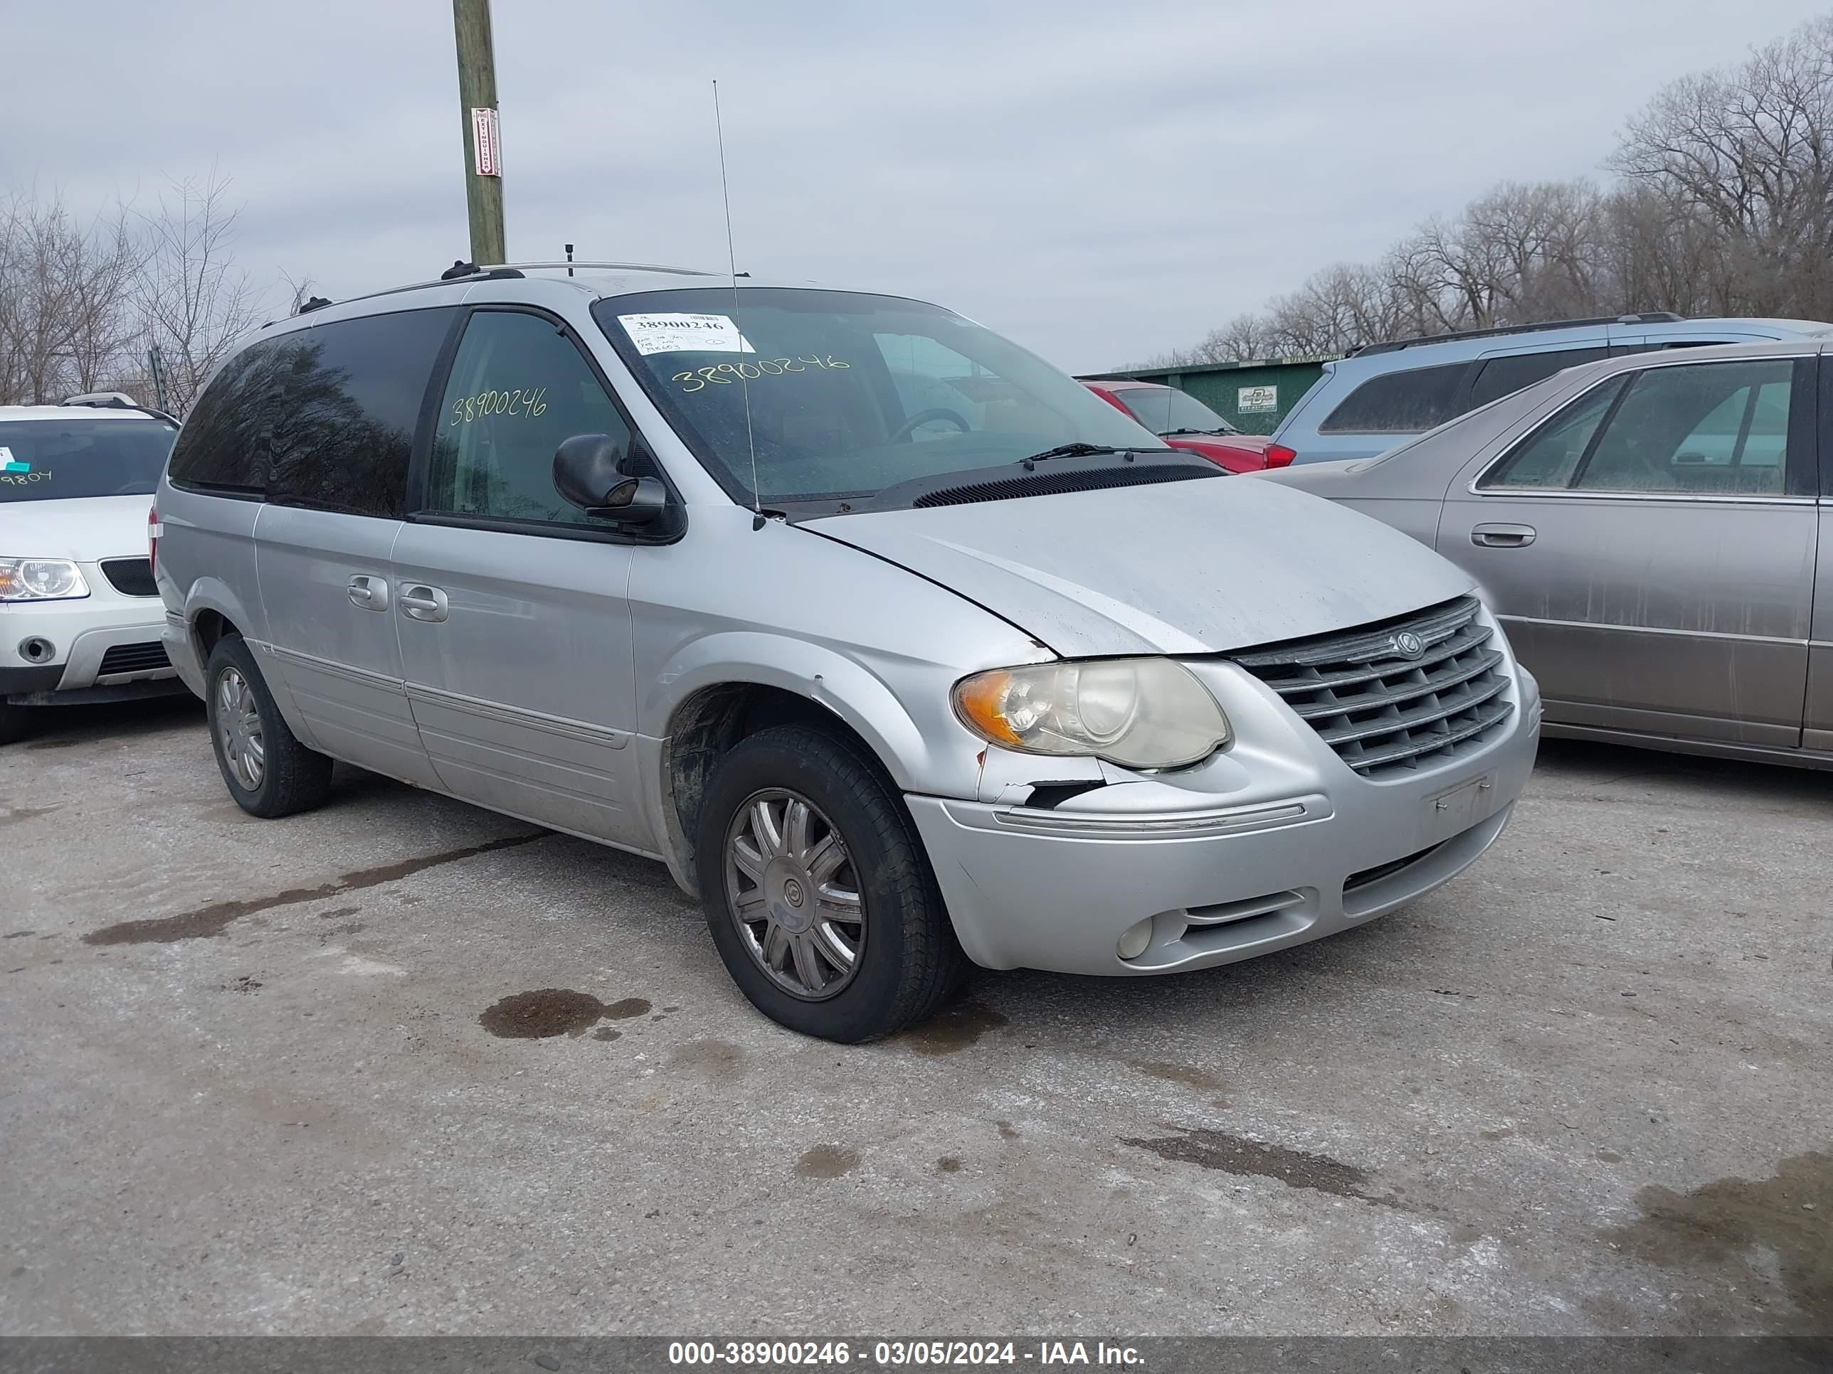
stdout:
<svg viewBox="0 0 1833 1374">
<path fill-rule="evenodd" d="M 1604 191 L 1503 183 L 1375 264 L 1314 273 L 1184 357 L 1644 310 L 1833 317 L 1833 15 L 1657 92 L 1609 170 Z"/>
</svg>

